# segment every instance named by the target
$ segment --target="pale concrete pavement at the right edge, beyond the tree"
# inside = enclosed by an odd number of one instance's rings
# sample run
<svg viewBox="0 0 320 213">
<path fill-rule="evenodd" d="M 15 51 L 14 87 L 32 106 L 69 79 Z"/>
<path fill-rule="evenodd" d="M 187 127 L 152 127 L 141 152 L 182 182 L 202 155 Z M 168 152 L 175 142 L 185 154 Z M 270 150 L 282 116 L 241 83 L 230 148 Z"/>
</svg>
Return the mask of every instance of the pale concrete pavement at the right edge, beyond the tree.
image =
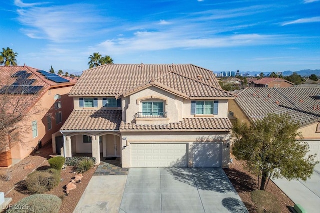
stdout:
<svg viewBox="0 0 320 213">
<path fill-rule="evenodd" d="M 294 203 L 300 204 L 307 213 L 317 213 L 320 209 L 320 164 L 306 182 L 272 180 Z"/>
</svg>

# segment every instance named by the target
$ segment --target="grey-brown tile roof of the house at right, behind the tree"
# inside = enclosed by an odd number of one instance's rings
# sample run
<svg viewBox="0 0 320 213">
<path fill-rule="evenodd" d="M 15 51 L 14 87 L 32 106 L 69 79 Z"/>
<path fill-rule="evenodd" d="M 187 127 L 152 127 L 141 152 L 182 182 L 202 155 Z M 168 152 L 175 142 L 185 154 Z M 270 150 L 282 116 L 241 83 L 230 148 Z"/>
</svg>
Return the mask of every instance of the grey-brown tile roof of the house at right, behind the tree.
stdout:
<svg viewBox="0 0 320 213">
<path fill-rule="evenodd" d="M 235 102 L 251 122 L 268 113 L 288 113 L 303 125 L 320 121 L 320 101 L 312 97 L 318 95 L 320 88 L 246 88 L 237 92 Z"/>
</svg>

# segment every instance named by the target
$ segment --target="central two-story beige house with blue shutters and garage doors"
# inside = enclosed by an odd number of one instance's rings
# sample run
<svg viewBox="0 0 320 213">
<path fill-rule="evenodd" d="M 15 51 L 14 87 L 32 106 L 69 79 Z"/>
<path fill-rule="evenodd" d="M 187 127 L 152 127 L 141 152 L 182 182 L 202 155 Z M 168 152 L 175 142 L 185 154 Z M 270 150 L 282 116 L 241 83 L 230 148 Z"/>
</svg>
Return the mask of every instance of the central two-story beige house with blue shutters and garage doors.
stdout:
<svg viewBox="0 0 320 213">
<path fill-rule="evenodd" d="M 83 71 L 60 131 L 64 155 L 122 167 L 228 167 L 228 100 L 213 72 L 189 65 L 105 64 Z"/>
</svg>

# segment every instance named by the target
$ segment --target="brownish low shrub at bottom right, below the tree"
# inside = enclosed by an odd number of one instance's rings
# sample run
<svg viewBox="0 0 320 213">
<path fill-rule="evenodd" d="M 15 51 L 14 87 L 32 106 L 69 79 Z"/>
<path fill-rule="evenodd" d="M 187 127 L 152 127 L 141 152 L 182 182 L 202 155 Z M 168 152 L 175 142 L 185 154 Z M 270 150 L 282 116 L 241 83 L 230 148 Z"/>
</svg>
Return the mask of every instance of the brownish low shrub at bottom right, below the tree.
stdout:
<svg viewBox="0 0 320 213">
<path fill-rule="evenodd" d="M 251 192 L 251 199 L 256 206 L 257 213 L 280 213 L 281 207 L 277 202 L 277 199 L 270 193 L 255 190 Z M 265 210 L 265 211 L 264 211 Z"/>
</svg>

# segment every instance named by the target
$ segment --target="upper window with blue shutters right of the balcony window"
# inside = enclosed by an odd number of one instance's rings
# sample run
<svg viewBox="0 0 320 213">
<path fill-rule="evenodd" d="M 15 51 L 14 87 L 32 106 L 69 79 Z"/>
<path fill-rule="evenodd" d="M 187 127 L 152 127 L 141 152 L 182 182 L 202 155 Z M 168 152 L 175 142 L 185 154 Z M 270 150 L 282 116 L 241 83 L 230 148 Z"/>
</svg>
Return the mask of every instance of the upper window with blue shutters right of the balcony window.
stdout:
<svg viewBox="0 0 320 213">
<path fill-rule="evenodd" d="M 191 101 L 191 115 L 217 115 L 218 101 Z"/>
</svg>

